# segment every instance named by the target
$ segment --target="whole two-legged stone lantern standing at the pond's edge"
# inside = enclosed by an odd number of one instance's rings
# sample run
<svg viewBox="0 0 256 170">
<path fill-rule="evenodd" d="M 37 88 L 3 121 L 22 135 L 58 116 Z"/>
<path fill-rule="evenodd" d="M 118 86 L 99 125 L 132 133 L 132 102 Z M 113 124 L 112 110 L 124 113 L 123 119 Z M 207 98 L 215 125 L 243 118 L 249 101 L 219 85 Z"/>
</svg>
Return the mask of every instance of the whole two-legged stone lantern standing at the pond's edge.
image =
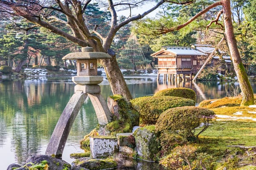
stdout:
<svg viewBox="0 0 256 170">
<path fill-rule="evenodd" d="M 108 105 L 100 94 L 98 85 L 103 77 L 97 76 L 97 59 L 111 59 L 111 56 L 93 52 L 92 47 L 83 47 L 82 52 L 67 54 L 62 59 L 76 59 L 77 76 L 72 77 L 76 83 L 75 94 L 62 112 L 45 152 L 46 155 L 54 155 L 60 159 L 73 122 L 87 96 L 93 104 L 100 125 L 107 124 L 111 119 Z"/>
</svg>

